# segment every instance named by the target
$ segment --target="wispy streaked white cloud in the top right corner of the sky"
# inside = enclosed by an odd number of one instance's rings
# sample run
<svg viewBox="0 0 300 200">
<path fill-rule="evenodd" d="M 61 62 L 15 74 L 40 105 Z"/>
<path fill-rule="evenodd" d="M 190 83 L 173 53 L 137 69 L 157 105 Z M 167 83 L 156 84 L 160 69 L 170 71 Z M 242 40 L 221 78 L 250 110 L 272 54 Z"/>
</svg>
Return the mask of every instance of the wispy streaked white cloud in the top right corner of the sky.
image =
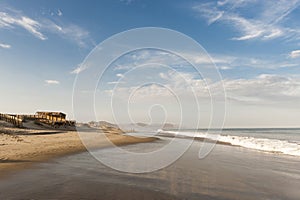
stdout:
<svg viewBox="0 0 300 200">
<path fill-rule="evenodd" d="M 233 26 L 241 33 L 234 40 L 261 39 L 269 40 L 278 37 L 289 39 L 299 39 L 300 29 L 286 22 L 290 15 L 298 6 L 299 0 L 282 1 L 256 1 L 256 0 L 225 0 L 210 3 L 202 3 L 193 6 L 193 10 L 204 17 L 208 24 L 221 22 Z M 253 6 L 260 11 L 253 12 Z M 245 13 L 241 10 L 248 10 Z M 243 9 L 238 9 L 243 8 Z M 258 14 L 259 13 L 259 14 Z"/>
</svg>

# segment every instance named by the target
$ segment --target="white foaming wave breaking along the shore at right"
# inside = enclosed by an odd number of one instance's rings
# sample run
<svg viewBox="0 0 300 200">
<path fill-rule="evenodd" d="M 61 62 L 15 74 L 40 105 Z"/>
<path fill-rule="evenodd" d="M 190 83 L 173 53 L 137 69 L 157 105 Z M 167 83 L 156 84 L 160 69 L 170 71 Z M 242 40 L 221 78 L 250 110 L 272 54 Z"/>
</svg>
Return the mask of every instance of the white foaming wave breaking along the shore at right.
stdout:
<svg viewBox="0 0 300 200">
<path fill-rule="evenodd" d="M 160 135 L 172 135 L 187 138 L 209 139 L 222 144 L 255 149 L 269 153 L 279 153 L 292 156 L 300 156 L 299 141 L 287 141 L 281 139 L 268 139 L 251 136 L 217 135 L 204 132 L 176 132 L 158 130 Z"/>
</svg>

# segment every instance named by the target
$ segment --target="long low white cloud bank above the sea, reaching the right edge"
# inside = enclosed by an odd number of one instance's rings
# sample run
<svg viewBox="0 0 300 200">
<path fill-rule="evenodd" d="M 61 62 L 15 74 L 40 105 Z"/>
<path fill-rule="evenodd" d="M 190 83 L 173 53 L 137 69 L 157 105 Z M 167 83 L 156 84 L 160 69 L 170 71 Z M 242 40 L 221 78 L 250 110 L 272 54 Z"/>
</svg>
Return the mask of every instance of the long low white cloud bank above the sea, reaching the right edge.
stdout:
<svg viewBox="0 0 300 200">
<path fill-rule="evenodd" d="M 189 97 L 193 94 L 208 99 L 210 95 L 221 97 L 220 95 L 224 94 L 221 90 L 225 88 L 228 99 L 246 104 L 299 102 L 300 99 L 299 77 L 261 74 L 251 79 L 225 79 L 212 82 L 195 78 L 189 73 L 172 71 L 160 73 L 159 77 L 166 80 L 166 83 L 143 85 L 143 87 L 120 85 L 110 93 L 114 93 L 120 99 L 126 99 L 125 97 L 132 93 L 135 93 L 137 100 L 159 99 L 174 95 Z"/>
</svg>

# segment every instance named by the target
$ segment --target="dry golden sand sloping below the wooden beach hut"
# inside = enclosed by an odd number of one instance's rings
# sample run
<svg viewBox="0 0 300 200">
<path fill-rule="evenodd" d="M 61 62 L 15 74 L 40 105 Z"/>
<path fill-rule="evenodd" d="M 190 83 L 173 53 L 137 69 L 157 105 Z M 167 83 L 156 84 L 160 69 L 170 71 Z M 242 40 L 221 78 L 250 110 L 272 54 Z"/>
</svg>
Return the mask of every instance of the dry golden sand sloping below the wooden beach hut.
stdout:
<svg viewBox="0 0 300 200">
<path fill-rule="evenodd" d="M 156 140 L 156 138 L 136 138 L 114 131 L 99 134 L 103 135 L 102 138 L 106 136 L 115 145 Z M 107 146 L 109 146 L 107 142 L 98 140 L 95 147 Z M 0 176 L 9 174 L 16 169 L 23 169 L 33 163 L 84 151 L 86 148 L 76 131 L 33 130 L 0 126 Z"/>
</svg>

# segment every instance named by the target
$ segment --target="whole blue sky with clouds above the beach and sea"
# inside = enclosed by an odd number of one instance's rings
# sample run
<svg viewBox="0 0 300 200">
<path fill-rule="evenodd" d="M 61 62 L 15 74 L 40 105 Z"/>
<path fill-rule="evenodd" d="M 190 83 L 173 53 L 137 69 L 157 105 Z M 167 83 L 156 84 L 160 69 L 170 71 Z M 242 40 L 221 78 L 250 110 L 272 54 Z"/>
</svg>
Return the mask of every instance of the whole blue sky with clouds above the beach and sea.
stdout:
<svg viewBox="0 0 300 200">
<path fill-rule="evenodd" d="M 182 113 L 176 95 L 181 95 L 190 113 L 183 124 L 193 127 L 188 122 L 197 118 L 198 110 L 188 94 L 192 88 L 200 100 L 200 127 L 207 127 L 212 116 L 207 88 L 224 87 L 226 102 L 214 105 L 220 112 L 226 108 L 216 116 L 225 116 L 224 127 L 300 127 L 299 5 L 299 0 L 2 0 L 0 112 L 55 110 L 78 121 L 115 122 L 117 116 L 119 122 L 130 123 L 126 110 L 120 111 L 129 106 L 134 122 L 178 124 Z M 88 71 L 90 52 L 115 34 L 143 27 L 192 38 L 221 79 L 199 77 L 183 60 L 163 51 L 134 51 L 114 61 L 101 79 L 96 117 L 80 108 L 82 114 L 75 115 L 74 85 Z M 183 54 L 206 63 L 203 55 Z M 134 68 L 141 65 L 140 71 Z M 76 95 L 84 99 L 90 92 L 82 89 Z"/>
</svg>

